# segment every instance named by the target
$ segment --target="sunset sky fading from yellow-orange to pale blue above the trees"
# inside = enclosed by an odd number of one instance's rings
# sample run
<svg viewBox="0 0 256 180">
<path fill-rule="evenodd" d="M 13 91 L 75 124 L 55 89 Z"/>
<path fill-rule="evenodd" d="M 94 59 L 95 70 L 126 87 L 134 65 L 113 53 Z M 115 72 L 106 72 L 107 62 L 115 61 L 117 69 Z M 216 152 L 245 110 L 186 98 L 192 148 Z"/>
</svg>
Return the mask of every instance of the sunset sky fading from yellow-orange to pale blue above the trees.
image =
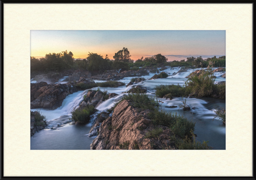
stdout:
<svg viewBox="0 0 256 180">
<path fill-rule="evenodd" d="M 30 56 L 44 57 L 67 50 L 74 58 L 84 59 L 97 53 L 113 59 L 127 47 L 131 59 L 162 54 L 168 61 L 190 56 L 203 58 L 226 55 L 225 31 L 67 31 L 31 30 Z"/>
</svg>

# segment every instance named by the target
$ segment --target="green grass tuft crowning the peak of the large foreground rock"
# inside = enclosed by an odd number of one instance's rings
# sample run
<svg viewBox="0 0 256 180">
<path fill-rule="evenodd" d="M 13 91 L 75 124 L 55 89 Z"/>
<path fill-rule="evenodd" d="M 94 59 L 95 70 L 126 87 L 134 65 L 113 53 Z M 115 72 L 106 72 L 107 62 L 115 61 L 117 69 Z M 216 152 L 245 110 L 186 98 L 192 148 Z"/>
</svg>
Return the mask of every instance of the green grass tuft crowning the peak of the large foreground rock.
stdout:
<svg viewBox="0 0 256 180">
<path fill-rule="evenodd" d="M 131 100 L 132 106 L 142 109 L 155 110 L 155 107 L 158 105 L 157 100 L 148 94 L 125 94 L 114 104 L 114 108 L 123 100 Z"/>
</svg>

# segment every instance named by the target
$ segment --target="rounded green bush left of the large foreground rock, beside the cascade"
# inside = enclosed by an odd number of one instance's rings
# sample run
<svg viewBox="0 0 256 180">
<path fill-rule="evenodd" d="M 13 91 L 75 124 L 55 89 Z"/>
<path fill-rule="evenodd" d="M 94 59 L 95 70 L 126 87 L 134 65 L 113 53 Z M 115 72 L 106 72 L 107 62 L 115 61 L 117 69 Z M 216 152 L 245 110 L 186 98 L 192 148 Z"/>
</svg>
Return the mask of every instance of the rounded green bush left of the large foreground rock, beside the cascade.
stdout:
<svg viewBox="0 0 256 180">
<path fill-rule="evenodd" d="M 94 106 L 89 105 L 88 107 L 84 108 L 73 108 L 71 112 L 71 118 L 69 118 L 72 121 L 79 122 L 79 123 L 88 123 L 90 120 L 90 115 L 94 112 Z"/>
</svg>

